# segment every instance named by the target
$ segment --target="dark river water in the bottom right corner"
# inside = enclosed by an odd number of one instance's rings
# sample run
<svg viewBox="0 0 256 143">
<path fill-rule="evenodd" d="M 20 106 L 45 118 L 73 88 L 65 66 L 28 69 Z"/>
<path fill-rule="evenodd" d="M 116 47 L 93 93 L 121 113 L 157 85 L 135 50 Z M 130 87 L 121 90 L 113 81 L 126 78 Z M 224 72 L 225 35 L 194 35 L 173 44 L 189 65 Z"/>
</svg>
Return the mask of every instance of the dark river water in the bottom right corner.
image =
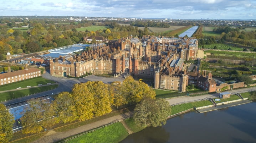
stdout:
<svg viewBox="0 0 256 143">
<path fill-rule="evenodd" d="M 256 102 L 205 113 L 189 112 L 147 127 L 121 143 L 256 143 Z"/>
</svg>

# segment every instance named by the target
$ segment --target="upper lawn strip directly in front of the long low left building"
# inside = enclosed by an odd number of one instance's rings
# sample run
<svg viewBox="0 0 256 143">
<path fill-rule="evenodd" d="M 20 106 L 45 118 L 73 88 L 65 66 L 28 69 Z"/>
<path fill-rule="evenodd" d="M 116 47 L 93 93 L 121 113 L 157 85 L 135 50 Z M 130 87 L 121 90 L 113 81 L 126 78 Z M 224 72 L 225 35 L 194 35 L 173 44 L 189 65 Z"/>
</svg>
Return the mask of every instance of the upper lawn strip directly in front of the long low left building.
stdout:
<svg viewBox="0 0 256 143">
<path fill-rule="evenodd" d="M 36 77 L 36 78 L 25 79 L 24 81 L 18 81 L 18 82 L 2 85 L 0 86 L 0 91 L 16 89 L 17 87 L 24 88 L 27 86 L 31 86 L 31 87 L 38 86 L 38 84 L 44 85 L 47 83 L 55 83 L 55 82 L 42 77 Z"/>
</svg>

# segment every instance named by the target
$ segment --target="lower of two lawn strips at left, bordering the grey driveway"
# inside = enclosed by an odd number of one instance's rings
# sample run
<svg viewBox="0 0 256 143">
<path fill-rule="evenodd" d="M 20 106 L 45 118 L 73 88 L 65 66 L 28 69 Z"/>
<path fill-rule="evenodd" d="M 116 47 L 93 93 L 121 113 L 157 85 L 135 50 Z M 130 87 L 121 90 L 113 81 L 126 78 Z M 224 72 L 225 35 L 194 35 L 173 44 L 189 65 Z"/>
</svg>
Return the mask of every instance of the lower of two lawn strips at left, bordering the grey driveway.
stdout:
<svg viewBox="0 0 256 143">
<path fill-rule="evenodd" d="M 0 93 L 0 101 L 12 100 L 15 98 L 25 97 L 27 95 L 40 93 L 40 92 L 44 92 L 47 90 L 52 90 L 52 89 L 55 89 L 56 87 L 58 87 L 58 85 L 54 84 L 54 85 L 50 85 L 50 86 L 43 86 L 43 87 L 29 88 L 29 89 L 24 89 L 24 90 L 4 92 L 4 93 Z"/>
</svg>

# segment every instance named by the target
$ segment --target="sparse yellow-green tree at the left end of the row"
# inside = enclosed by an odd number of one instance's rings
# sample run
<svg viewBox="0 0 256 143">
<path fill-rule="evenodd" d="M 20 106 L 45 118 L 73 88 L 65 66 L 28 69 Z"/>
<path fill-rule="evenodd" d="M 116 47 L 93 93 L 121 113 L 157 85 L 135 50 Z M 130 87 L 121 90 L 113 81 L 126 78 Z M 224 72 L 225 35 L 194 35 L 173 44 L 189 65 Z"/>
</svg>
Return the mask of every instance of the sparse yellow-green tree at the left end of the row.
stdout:
<svg viewBox="0 0 256 143">
<path fill-rule="evenodd" d="M 52 104 L 43 99 L 31 99 L 28 103 L 29 107 L 21 117 L 22 132 L 25 134 L 39 133 L 44 129 L 51 128 L 54 124 Z"/>
</svg>

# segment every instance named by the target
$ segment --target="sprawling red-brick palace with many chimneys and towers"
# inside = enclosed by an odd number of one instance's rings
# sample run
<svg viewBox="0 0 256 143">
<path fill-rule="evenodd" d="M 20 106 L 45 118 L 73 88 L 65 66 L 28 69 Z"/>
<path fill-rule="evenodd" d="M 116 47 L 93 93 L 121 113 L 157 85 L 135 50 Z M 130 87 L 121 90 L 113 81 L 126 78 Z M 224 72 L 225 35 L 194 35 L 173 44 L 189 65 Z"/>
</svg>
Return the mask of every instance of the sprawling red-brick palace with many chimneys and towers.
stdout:
<svg viewBox="0 0 256 143">
<path fill-rule="evenodd" d="M 155 81 L 155 88 L 185 92 L 189 77 L 183 69 L 184 60 L 196 59 L 198 39 L 144 36 L 94 44 L 71 57 L 50 60 L 53 76 L 126 73 L 135 78 Z"/>
</svg>

